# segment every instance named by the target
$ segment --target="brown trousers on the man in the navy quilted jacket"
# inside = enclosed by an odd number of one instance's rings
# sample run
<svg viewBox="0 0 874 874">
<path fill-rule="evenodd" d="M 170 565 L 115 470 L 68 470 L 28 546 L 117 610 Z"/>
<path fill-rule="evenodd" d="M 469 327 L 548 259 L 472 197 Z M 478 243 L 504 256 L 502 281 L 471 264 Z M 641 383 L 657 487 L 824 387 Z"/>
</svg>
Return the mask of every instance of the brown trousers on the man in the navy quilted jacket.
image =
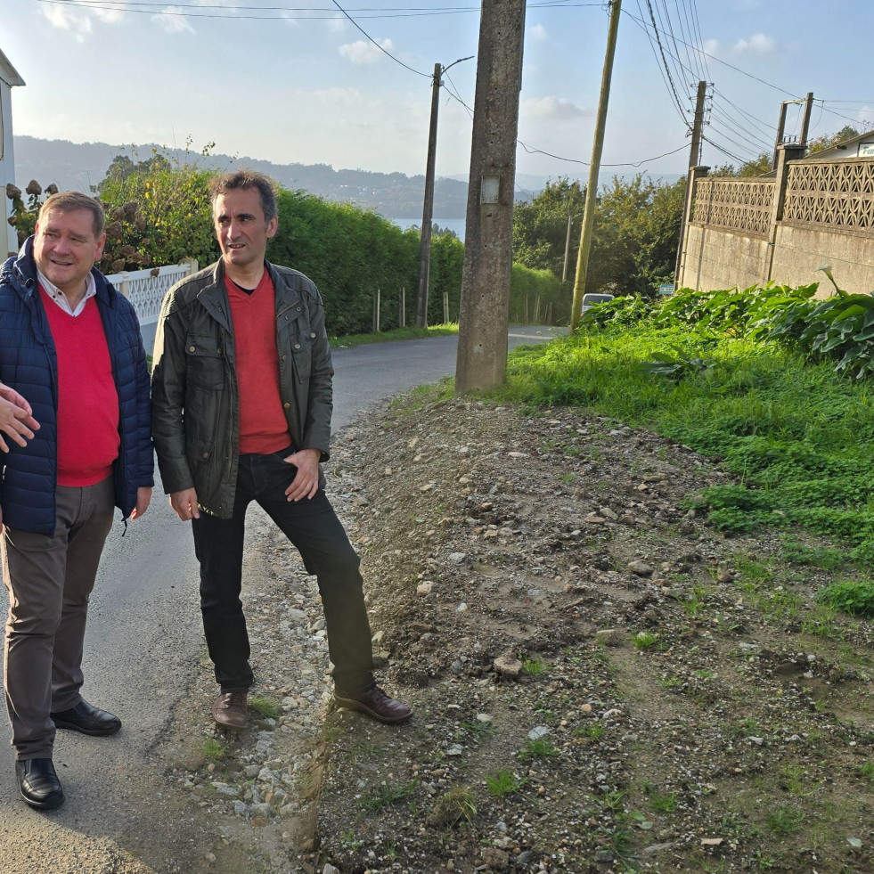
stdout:
<svg viewBox="0 0 874 874">
<path fill-rule="evenodd" d="M 4 686 L 17 759 L 51 758 L 50 714 L 82 699 L 88 599 L 112 527 L 112 478 L 85 488 L 58 486 L 56 503 L 53 537 L 4 527 Z"/>
</svg>

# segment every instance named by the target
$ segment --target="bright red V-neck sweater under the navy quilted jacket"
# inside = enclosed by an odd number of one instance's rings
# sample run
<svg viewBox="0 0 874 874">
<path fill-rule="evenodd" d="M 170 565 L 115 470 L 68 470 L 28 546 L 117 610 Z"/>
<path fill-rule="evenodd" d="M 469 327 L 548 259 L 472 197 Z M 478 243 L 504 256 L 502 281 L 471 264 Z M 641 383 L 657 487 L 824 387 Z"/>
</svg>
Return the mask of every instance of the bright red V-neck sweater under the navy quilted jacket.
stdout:
<svg viewBox="0 0 874 874">
<path fill-rule="evenodd" d="M 45 290 L 43 306 L 58 355 L 58 485 L 94 486 L 118 458 L 118 390 L 95 298 L 65 313 Z"/>
</svg>

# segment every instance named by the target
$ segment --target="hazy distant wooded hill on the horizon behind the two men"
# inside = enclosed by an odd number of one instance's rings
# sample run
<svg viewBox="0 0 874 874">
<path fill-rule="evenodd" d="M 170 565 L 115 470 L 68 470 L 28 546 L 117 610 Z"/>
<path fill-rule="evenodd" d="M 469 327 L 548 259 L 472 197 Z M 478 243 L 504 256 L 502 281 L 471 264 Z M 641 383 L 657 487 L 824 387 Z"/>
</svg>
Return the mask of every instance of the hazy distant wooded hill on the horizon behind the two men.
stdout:
<svg viewBox="0 0 874 874">
<path fill-rule="evenodd" d="M 274 164 L 255 158 L 208 155 L 164 149 L 154 143 L 140 146 L 109 143 L 70 143 L 69 140 L 42 140 L 34 136 L 15 136 L 15 182 L 24 189 L 31 179 L 44 188 L 55 183 L 61 189 L 90 192 L 98 184 L 116 155 L 147 159 L 153 150 L 170 159 L 190 161 L 204 167 L 227 169 L 251 167 L 272 176 L 287 188 L 304 189 L 325 200 L 352 203 L 372 209 L 387 218 L 421 220 L 424 176 L 403 173 L 372 173 L 367 170 L 335 170 L 329 164 Z M 467 183 L 457 179 L 437 179 L 434 186 L 434 216 L 464 218 L 467 209 Z"/>
</svg>

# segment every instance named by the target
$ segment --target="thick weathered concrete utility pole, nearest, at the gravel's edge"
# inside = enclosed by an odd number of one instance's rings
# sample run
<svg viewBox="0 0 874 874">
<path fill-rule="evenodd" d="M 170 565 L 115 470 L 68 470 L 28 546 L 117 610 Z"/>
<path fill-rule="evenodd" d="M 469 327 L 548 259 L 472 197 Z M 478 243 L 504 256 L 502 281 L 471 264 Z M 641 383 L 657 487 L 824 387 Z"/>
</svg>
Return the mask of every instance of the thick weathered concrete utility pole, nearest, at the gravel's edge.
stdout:
<svg viewBox="0 0 874 874">
<path fill-rule="evenodd" d="M 506 375 L 524 29 L 525 0 L 482 0 L 456 395 L 501 385 Z"/>
</svg>

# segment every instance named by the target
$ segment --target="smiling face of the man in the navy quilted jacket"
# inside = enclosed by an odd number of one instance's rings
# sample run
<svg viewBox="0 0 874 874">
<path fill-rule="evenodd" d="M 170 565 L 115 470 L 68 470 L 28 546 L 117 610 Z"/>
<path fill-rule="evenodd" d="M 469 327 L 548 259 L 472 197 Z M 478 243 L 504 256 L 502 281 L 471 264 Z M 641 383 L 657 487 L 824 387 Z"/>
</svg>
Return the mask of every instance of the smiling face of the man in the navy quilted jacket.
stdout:
<svg viewBox="0 0 874 874">
<path fill-rule="evenodd" d="M 103 254 L 106 234 L 94 236 L 90 209 L 53 209 L 39 216 L 33 254 L 37 267 L 65 295 L 77 296 L 85 289 L 87 275 Z"/>
</svg>

